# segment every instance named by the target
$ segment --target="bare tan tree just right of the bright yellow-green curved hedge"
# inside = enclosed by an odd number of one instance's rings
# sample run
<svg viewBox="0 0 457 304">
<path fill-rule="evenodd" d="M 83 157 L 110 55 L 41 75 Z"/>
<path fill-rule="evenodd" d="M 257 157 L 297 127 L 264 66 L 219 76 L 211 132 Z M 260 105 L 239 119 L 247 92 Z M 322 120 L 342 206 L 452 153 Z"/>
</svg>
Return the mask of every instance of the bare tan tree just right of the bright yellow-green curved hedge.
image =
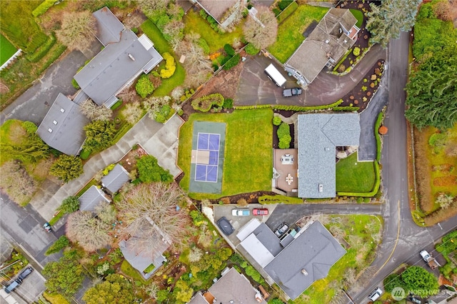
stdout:
<svg viewBox="0 0 457 304">
<path fill-rule="evenodd" d="M 176 49 L 176 53 L 186 56 L 184 68 L 186 80 L 184 86 L 197 87 L 204 83 L 211 75 L 211 61 L 207 59 L 203 49 L 196 44 L 197 35 L 187 34 Z M 198 35 L 199 36 L 199 35 Z"/>
</svg>

